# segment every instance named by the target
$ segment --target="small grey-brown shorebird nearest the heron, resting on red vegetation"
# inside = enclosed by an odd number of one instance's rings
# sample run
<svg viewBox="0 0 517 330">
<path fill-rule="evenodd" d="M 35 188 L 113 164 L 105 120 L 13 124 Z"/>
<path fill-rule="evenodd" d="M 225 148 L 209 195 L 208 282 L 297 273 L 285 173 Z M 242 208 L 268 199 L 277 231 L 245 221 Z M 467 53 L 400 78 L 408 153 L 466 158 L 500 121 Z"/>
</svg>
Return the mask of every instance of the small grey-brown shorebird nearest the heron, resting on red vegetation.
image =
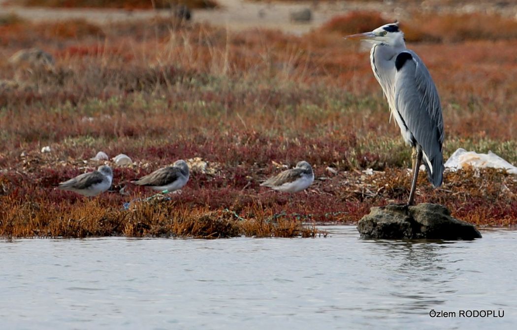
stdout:
<svg viewBox="0 0 517 330">
<path fill-rule="evenodd" d="M 284 192 L 298 192 L 307 189 L 314 181 L 312 167 L 306 161 L 299 161 L 294 169 L 267 179 L 261 186 Z"/>
</svg>

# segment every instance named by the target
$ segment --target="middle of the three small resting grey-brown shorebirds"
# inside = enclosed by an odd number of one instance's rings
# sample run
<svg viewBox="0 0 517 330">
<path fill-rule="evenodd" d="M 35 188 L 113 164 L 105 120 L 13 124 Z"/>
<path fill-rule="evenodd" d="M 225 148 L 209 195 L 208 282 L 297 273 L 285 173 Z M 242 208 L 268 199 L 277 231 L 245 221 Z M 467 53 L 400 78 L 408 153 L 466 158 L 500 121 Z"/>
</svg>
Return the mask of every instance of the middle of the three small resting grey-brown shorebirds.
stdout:
<svg viewBox="0 0 517 330">
<path fill-rule="evenodd" d="M 133 181 L 135 185 L 154 190 L 171 192 L 181 189 L 189 181 L 189 167 L 185 160 L 176 160 L 172 166 L 164 167 Z"/>
</svg>

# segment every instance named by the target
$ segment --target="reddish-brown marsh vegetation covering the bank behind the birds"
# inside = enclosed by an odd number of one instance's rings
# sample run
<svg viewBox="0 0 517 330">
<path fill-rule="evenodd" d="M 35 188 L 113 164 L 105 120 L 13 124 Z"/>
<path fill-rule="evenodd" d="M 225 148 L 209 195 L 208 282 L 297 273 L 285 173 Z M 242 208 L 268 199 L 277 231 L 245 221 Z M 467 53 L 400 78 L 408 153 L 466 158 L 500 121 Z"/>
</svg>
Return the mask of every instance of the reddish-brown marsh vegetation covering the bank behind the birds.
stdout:
<svg viewBox="0 0 517 330">
<path fill-rule="evenodd" d="M 73 33 L 39 24 L 0 25 L 0 236 L 311 236 L 303 223 L 355 223 L 371 206 L 407 198 L 410 149 L 388 121 L 368 54 L 327 27 L 296 37 L 164 19 L 72 21 Z M 408 41 L 442 98 L 445 157 L 464 147 L 517 162 L 517 37 L 464 38 Z M 28 46 L 55 65 L 9 64 Z M 40 153 L 45 145 L 50 153 Z M 96 168 L 89 158 L 100 150 L 135 161 L 109 162 L 113 192 L 86 199 L 55 189 Z M 129 183 L 194 157 L 208 170 L 193 169 L 171 200 L 145 201 L 154 193 Z M 283 169 L 276 163 L 299 160 L 316 174 L 307 194 L 259 186 Z M 118 193 L 124 186 L 129 196 Z M 503 172 L 447 173 L 439 189 L 421 175 L 418 187 L 417 201 L 466 221 L 516 223 L 516 181 Z"/>
</svg>

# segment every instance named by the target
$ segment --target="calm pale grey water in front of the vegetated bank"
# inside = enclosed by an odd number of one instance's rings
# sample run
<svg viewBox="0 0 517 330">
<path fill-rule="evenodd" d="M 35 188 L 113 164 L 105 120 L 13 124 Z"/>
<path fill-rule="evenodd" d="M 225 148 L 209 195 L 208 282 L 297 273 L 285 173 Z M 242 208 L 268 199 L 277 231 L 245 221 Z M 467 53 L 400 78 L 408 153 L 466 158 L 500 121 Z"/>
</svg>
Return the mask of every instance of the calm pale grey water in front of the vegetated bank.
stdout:
<svg viewBox="0 0 517 330">
<path fill-rule="evenodd" d="M 515 328 L 517 231 L 472 242 L 327 238 L 0 243 L 2 329 Z M 430 318 L 431 309 L 456 311 Z M 459 310 L 504 310 L 460 318 Z"/>
</svg>

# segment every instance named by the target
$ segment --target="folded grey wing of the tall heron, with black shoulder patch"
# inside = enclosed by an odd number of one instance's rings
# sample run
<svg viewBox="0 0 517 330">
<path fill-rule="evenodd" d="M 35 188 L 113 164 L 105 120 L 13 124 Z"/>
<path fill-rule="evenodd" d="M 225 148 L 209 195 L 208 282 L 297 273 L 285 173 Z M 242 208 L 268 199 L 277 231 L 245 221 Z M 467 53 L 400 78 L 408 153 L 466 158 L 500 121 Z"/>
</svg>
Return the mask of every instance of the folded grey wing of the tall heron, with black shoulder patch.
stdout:
<svg viewBox="0 0 517 330">
<path fill-rule="evenodd" d="M 394 82 L 395 104 L 404 125 L 422 147 L 424 165 L 433 186 L 442 184 L 444 119 L 431 74 L 412 51 L 397 55 Z"/>
</svg>

